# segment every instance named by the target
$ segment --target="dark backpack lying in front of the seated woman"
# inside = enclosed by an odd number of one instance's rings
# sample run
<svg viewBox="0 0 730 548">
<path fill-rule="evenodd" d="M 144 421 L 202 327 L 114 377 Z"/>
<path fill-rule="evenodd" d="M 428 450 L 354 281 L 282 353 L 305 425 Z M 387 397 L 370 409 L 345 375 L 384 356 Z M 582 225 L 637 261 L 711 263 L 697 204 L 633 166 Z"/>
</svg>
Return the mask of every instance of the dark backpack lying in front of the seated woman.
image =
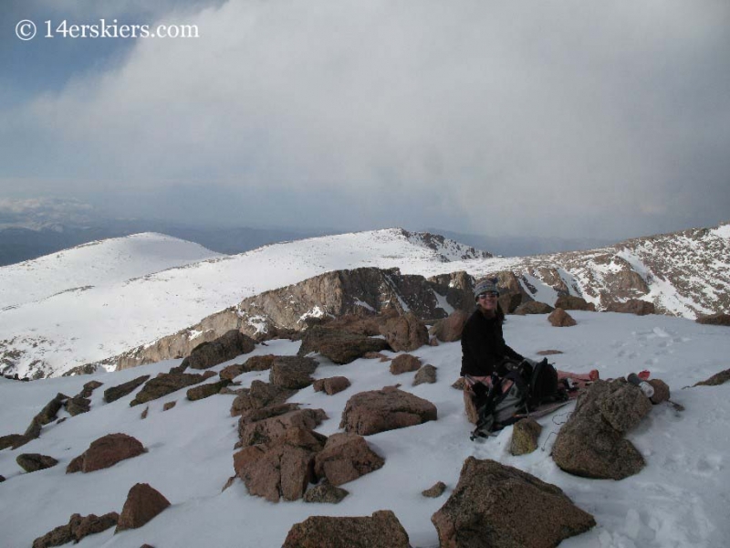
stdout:
<svg viewBox="0 0 730 548">
<path fill-rule="evenodd" d="M 558 371 L 547 358 L 535 366 L 513 362 L 507 369 L 503 377 L 492 374 L 489 386 L 477 383 L 472 387 L 478 414 L 472 439 L 507 427 L 539 406 L 568 399 L 558 385 Z"/>
</svg>

